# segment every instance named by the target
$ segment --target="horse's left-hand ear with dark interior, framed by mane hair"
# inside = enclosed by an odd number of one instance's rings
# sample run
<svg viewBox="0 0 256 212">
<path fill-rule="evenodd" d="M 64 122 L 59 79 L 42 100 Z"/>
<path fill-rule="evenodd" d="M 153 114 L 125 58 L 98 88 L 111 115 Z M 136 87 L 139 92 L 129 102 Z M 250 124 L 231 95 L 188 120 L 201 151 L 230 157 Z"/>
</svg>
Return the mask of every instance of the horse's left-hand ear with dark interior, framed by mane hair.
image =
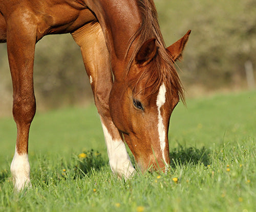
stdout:
<svg viewBox="0 0 256 212">
<path fill-rule="evenodd" d="M 138 51 L 135 62 L 136 64 L 139 64 L 141 66 L 146 65 L 148 62 L 150 62 L 156 55 L 157 52 L 157 45 L 156 45 L 156 39 L 152 38 L 150 40 L 147 40 L 143 43 L 140 50 Z"/>
</svg>

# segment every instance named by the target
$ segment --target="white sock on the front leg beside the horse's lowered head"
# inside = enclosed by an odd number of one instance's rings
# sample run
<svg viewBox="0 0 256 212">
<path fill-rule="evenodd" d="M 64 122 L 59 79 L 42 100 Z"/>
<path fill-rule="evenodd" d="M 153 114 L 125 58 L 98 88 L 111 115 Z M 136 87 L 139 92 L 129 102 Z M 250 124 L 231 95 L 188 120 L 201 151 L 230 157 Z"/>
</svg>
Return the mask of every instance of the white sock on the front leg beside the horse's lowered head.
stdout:
<svg viewBox="0 0 256 212">
<path fill-rule="evenodd" d="M 129 178 L 134 173 L 135 169 L 132 166 L 124 143 L 122 140 L 114 140 L 103 123 L 102 128 L 112 172 L 117 173 L 119 177 L 124 176 L 125 179 Z"/>
</svg>

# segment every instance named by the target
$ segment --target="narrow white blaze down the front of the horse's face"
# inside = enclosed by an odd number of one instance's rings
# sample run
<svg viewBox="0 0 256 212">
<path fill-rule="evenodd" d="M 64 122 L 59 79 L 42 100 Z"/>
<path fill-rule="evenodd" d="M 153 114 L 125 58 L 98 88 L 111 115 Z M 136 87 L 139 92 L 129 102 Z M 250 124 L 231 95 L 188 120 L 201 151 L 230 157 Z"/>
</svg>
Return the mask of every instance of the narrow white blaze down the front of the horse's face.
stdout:
<svg viewBox="0 0 256 212">
<path fill-rule="evenodd" d="M 157 95 L 157 110 L 158 110 L 158 134 L 159 134 L 159 140 L 160 140 L 160 147 L 163 155 L 164 162 L 166 162 L 166 158 L 164 155 L 164 148 L 165 148 L 165 127 L 163 125 L 163 117 L 161 115 L 161 107 L 165 103 L 165 93 L 166 88 L 165 85 L 162 84 L 159 88 L 158 95 Z"/>
</svg>

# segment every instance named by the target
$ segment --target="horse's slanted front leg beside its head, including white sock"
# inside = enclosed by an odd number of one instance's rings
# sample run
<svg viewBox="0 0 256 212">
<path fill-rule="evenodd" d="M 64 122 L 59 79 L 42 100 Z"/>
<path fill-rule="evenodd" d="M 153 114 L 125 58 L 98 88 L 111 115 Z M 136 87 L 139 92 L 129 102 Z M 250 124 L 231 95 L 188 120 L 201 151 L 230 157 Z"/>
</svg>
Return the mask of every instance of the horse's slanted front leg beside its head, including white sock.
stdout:
<svg viewBox="0 0 256 212">
<path fill-rule="evenodd" d="M 76 43 L 81 48 L 84 66 L 90 79 L 95 105 L 105 137 L 106 148 L 113 173 L 119 177 L 129 178 L 135 171 L 127 154 L 119 130 L 110 116 L 109 96 L 113 85 L 110 68 L 109 52 L 99 23 L 89 23 L 87 26 L 72 33 Z"/>
</svg>

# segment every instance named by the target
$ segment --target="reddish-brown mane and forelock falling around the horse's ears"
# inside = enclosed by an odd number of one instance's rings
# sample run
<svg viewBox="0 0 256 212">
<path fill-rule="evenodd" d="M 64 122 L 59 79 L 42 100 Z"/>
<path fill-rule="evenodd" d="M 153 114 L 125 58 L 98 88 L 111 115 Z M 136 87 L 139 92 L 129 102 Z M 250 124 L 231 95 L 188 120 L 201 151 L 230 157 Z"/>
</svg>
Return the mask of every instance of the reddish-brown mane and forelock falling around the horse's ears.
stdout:
<svg viewBox="0 0 256 212">
<path fill-rule="evenodd" d="M 185 103 L 184 89 L 178 76 L 177 70 L 174 66 L 174 61 L 172 61 L 165 49 L 165 43 L 163 40 L 163 36 L 160 32 L 158 15 L 154 1 L 138 0 L 137 4 L 139 7 L 142 23 L 138 31 L 130 39 L 130 47 L 135 40 L 137 43 L 128 62 L 126 72 L 129 72 L 130 67 L 139 49 L 145 41 L 151 38 L 156 38 L 158 50 L 156 56 L 152 59 L 152 61 L 143 68 L 143 73 L 137 80 L 137 82 L 133 83 L 135 86 L 134 89 L 136 89 L 136 85 L 138 84 L 138 82 L 142 78 L 145 78 L 146 84 L 144 86 L 144 89 L 146 89 L 147 87 L 152 87 L 152 93 L 150 93 L 150 95 L 152 95 L 153 93 L 157 92 L 160 85 L 165 82 L 166 86 L 170 86 L 171 92 L 177 92 L 181 101 Z M 127 53 L 129 49 L 130 48 L 128 48 Z"/>
</svg>

